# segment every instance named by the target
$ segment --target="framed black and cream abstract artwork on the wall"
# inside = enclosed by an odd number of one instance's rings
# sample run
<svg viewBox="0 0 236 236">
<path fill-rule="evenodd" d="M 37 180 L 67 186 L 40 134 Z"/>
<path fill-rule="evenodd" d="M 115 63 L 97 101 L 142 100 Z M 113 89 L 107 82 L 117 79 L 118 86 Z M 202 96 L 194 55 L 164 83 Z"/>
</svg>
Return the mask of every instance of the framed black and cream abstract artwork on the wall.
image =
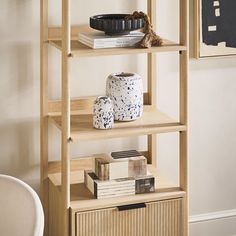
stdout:
<svg viewBox="0 0 236 236">
<path fill-rule="evenodd" d="M 236 55 L 236 0 L 194 0 L 195 57 Z"/>
</svg>

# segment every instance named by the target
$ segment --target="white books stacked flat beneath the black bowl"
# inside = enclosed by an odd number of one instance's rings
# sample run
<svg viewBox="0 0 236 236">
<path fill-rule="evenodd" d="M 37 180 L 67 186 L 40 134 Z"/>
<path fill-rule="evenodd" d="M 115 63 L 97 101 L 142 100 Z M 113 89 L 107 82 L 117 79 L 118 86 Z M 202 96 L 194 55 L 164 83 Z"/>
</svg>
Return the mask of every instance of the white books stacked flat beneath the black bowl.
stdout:
<svg viewBox="0 0 236 236">
<path fill-rule="evenodd" d="M 79 42 L 94 49 L 134 47 L 142 40 L 144 33 L 133 31 L 126 35 L 109 36 L 103 32 L 79 33 Z"/>
</svg>

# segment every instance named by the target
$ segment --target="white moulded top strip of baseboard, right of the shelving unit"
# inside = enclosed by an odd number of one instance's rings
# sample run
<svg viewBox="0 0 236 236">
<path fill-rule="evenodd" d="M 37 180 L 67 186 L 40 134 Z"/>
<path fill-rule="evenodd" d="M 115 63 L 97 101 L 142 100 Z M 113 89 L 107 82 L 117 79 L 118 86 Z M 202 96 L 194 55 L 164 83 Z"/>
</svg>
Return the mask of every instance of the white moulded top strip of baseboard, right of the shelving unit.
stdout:
<svg viewBox="0 0 236 236">
<path fill-rule="evenodd" d="M 236 217 L 236 209 L 192 215 L 189 217 L 189 223 L 193 224 L 210 220 L 224 219 L 229 217 Z"/>
</svg>

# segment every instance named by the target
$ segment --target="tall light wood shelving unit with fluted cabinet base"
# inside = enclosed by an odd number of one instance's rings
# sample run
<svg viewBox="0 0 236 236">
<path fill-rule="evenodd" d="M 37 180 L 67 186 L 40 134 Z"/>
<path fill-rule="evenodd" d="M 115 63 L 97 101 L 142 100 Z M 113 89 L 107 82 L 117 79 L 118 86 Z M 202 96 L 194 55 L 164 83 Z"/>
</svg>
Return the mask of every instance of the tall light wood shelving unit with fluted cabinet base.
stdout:
<svg viewBox="0 0 236 236">
<path fill-rule="evenodd" d="M 71 26 L 70 0 L 62 0 L 62 26 L 49 27 L 48 1 L 41 0 L 41 199 L 45 212 L 45 235 L 50 236 L 187 236 L 187 77 L 188 77 L 188 0 L 180 0 L 180 39 L 164 41 L 150 49 L 90 49 L 77 41 L 79 31 L 88 26 Z M 148 14 L 155 27 L 156 1 L 147 0 Z M 61 51 L 62 98 L 48 97 L 48 47 Z M 178 120 L 159 111 L 156 104 L 155 54 L 179 52 L 180 116 Z M 116 122 L 111 130 L 92 127 L 94 97 L 72 99 L 69 60 L 77 57 L 147 54 L 147 93 L 144 114 L 133 122 Z M 49 161 L 48 124 L 61 131 L 61 158 Z M 156 135 L 179 133 L 179 184 L 156 171 Z M 156 176 L 156 191 L 110 199 L 95 199 L 83 185 L 83 170 L 90 169 L 94 157 L 71 160 L 72 142 L 146 135 L 149 169 Z M 120 212 L 117 206 L 145 203 L 146 208 Z"/>
</svg>

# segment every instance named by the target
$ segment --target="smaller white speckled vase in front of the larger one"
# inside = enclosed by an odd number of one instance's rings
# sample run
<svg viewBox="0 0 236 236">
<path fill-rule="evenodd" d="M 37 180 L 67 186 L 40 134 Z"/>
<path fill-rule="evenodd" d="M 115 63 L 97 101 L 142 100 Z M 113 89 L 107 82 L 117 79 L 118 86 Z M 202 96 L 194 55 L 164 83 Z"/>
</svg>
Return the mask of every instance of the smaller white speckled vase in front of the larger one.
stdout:
<svg viewBox="0 0 236 236">
<path fill-rule="evenodd" d="M 111 129 L 114 124 L 113 102 L 107 96 L 100 96 L 94 101 L 93 127 Z"/>
</svg>

